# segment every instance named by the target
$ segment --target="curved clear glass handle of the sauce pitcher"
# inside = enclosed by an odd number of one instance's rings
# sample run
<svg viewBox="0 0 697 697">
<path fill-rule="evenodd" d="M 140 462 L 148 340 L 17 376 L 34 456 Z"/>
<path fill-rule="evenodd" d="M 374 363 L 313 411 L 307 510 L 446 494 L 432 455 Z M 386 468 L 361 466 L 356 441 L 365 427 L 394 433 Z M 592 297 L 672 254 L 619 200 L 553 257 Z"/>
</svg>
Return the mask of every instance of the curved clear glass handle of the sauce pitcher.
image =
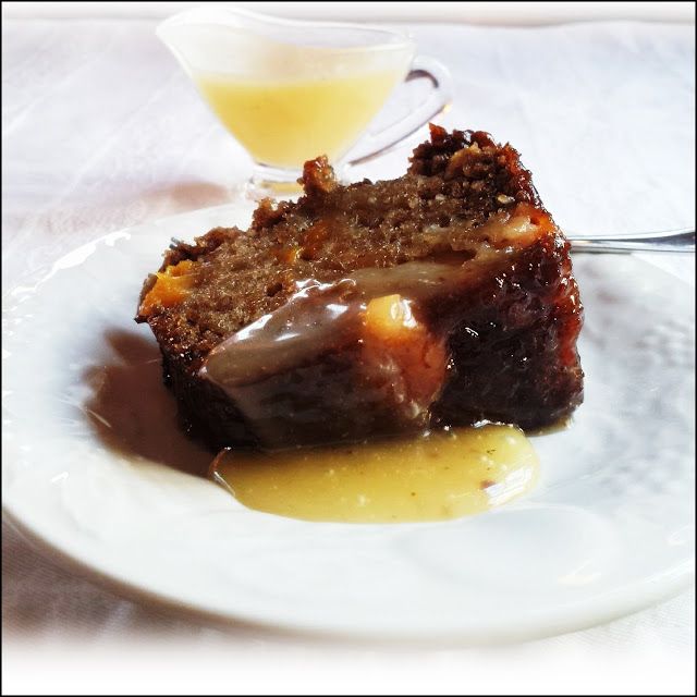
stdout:
<svg viewBox="0 0 697 697">
<path fill-rule="evenodd" d="M 369 133 L 364 136 L 363 152 L 345 162 L 348 167 L 363 164 L 393 150 L 431 119 L 448 110 L 452 101 L 452 78 L 448 69 L 433 58 L 418 56 L 412 63 L 412 70 L 404 82 L 408 83 L 423 77 L 428 78 L 431 83 L 431 89 L 424 102 L 378 133 Z"/>
</svg>

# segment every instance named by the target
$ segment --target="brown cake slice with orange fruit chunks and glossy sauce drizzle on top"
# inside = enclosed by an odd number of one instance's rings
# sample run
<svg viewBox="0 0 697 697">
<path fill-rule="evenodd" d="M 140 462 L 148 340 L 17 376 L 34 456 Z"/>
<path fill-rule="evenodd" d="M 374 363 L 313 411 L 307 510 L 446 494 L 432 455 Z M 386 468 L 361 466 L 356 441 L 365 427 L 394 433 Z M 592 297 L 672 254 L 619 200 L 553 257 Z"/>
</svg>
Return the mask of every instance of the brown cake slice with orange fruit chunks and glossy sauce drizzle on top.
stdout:
<svg viewBox="0 0 697 697">
<path fill-rule="evenodd" d="M 185 427 L 264 449 L 481 420 L 536 428 L 583 399 L 570 245 L 511 146 L 431 126 L 406 174 L 174 243 L 137 321 Z"/>
</svg>

